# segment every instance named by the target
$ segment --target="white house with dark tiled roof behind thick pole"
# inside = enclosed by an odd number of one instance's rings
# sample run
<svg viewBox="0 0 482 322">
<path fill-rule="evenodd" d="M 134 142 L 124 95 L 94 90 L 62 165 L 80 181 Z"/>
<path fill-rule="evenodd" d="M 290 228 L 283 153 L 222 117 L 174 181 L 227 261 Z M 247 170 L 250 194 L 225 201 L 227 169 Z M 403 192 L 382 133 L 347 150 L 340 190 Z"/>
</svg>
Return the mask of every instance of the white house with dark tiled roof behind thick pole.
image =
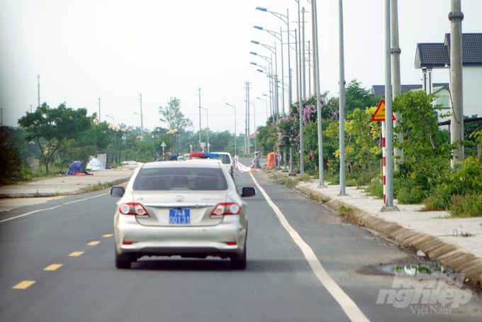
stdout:
<svg viewBox="0 0 482 322">
<path fill-rule="evenodd" d="M 417 43 L 415 68 L 422 70 L 423 89 L 434 93 L 432 70 L 449 67 L 449 33 L 445 34 L 444 43 Z M 482 33 L 462 34 L 462 68 L 464 116 L 470 117 L 477 114 L 480 117 L 482 116 Z M 447 101 L 447 97 L 444 97 L 443 101 Z M 448 101 L 450 101 L 449 98 Z"/>
</svg>

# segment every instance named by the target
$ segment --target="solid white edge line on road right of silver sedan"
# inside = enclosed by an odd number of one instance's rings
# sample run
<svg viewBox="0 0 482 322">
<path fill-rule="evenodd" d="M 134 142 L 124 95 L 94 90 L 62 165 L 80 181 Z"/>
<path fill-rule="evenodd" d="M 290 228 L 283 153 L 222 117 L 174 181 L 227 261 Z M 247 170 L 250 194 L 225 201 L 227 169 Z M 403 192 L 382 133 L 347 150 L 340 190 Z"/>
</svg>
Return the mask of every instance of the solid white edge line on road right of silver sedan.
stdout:
<svg viewBox="0 0 482 322">
<path fill-rule="evenodd" d="M 269 198 L 268 194 L 264 189 L 258 184 L 256 179 L 254 179 L 254 176 L 252 173 L 250 173 L 250 176 L 252 177 L 254 184 L 258 187 L 259 191 L 263 194 L 264 198 L 267 200 L 269 206 L 274 210 L 274 213 L 276 213 L 276 216 L 278 216 L 279 221 L 281 221 L 281 225 L 288 231 L 288 233 L 291 235 L 291 238 L 293 238 L 294 242 L 296 245 L 298 245 L 299 248 L 301 248 L 301 251 L 303 252 L 303 255 L 305 255 L 306 260 L 308 260 L 308 263 L 310 264 L 311 269 L 315 273 L 315 276 L 318 277 L 320 280 L 321 284 L 327 289 L 328 292 L 335 298 L 335 300 L 340 304 L 342 307 L 344 313 L 347 314 L 348 318 L 351 321 L 370 321 L 366 316 L 364 315 L 363 312 L 359 309 L 357 304 L 350 299 L 350 297 L 342 290 L 342 288 L 330 277 L 330 275 L 325 271 L 325 268 L 323 265 L 321 265 L 320 261 L 315 255 L 315 252 L 308 246 L 307 243 L 301 238 L 301 236 L 291 227 L 291 225 L 288 223 L 286 220 L 285 216 L 279 208 L 274 204 L 273 201 Z"/>
</svg>

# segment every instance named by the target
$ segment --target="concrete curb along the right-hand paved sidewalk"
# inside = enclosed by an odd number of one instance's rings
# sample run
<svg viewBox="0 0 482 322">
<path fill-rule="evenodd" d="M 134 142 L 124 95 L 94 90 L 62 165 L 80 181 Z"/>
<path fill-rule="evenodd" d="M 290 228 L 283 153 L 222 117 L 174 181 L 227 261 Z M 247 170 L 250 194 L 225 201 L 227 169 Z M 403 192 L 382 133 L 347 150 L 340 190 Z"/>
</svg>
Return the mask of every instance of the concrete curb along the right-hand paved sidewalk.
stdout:
<svg viewBox="0 0 482 322">
<path fill-rule="evenodd" d="M 323 195 L 322 192 L 313 191 L 313 189 L 303 184 L 296 185 L 294 189 L 316 202 L 320 202 L 322 199 L 330 199 L 330 197 Z M 481 283 L 482 258 L 467 252 L 464 248 L 413 228 L 386 221 L 340 199 L 328 201 L 323 206 L 335 212 L 339 212 L 341 206 L 352 208 L 354 216 L 359 218 L 361 226 L 382 233 L 387 238 L 398 241 L 401 245 L 422 250 L 432 260 L 437 260 L 443 265 L 447 265 L 455 272 L 465 273 L 466 277 L 473 282 Z"/>
</svg>

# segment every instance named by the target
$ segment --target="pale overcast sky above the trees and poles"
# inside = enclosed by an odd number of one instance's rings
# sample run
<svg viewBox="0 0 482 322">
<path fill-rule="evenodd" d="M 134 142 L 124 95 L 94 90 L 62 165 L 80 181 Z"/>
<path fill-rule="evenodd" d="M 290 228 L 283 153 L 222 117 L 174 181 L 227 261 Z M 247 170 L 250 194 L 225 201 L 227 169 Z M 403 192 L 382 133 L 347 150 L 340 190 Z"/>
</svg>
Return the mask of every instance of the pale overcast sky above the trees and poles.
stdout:
<svg viewBox="0 0 482 322">
<path fill-rule="evenodd" d="M 310 11 L 310 3 L 300 0 Z M 357 79 L 368 89 L 384 83 L 384 0 L 344 0 L 345 79 Z M 481 0 L 462 0 L 464 33 L 482 33 Z M 167 128 L 159 121 L 159 106 L 171 97 L 181 100 L 181 111 L 199 128 L 198 89 L 201 106 L 208 109 L 211 131 L 245 131 L 246 91 L 254 102 L 256 126 L 264 125 L 267 105 L 256 97 L 269 95 L 267 65 L 251 55 L 271 52 L 276 38 L 266 31 L 286 31 L 286 24 L 264 7 L 289 10 L 290 29 L 298 28 L 296 0 L 0 0 L 0 107 L 3 123 L 17 120 L 40 101 L 51 107 L 66 102 L 99 113 L 101 121 L 140 126 L 140 94 L 144 128 Z M 415 70 L 417 43 L 443 43 L 450 31 L 450 0 L 399 0 L 401 81 L 421 84 Z M 295 23 L 296 21 L 296 23 Z M 306 41 L 311 39 L 311 17 L 306 13 Z M 320 84 L 322 91 L 338 96 L 339 43 L 338 1 L 318 0 Z M 290 39 L 293 41 L 293 38 Z M 284 33 L 286 41 L 286 33 Z M 306 44 L 308 46 L 308 43 Z M 288 45 L 284 47 L 284 74 L 288 82 Z M 281 45 L 278 74 L 281 78 Z M 291 51 L 291 68 L 296 65 Z M 307 72 L 308 74 L 308 72 Z M 449 82 L 447 71 L 435 70 L 434 82 Z M 293 84 L 295 84 L 293 79 Z M 313 86 L 313 85 L 312 85 Z M 296 98 L 296 96 L 295 96 Z M 287 106 L 287 95 L 285 96 Z M 281 102 L 281 100 L 280 100 Z M 280 106 L 281 110 L 281 106 Z M 253 111 L 251 110 L 253 114 Z M 201 126 L 206 128 L 206 111 Z M 254 119 L 251 116 L 251 132 Z"/>
</svg>

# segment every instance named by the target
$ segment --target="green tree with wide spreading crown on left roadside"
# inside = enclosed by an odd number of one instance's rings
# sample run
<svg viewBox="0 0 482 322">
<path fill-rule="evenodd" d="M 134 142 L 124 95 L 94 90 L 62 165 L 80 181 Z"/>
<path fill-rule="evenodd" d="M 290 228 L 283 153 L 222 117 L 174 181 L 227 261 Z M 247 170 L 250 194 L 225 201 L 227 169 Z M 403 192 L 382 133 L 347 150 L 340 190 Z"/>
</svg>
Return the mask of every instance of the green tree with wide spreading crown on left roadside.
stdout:
<svg viewBox="0 0 482 322">
<path fill-rule="evenodd" d="M 53 161 L 55 152 L 66 140 L 77 138 L 79 133 L 91 126 L 91 119 L 86 116 L 87 109 L 74 110 L 60 104 L 56 109 L 50 109 L 46 103 L 38 107 L 35 112 L 28 113 L 18 119 L 18 125 L 26 128 L 26 140 L 34 140 L 40 150 L 45 163 L 45 172 Z M 41 139 L 45 144 L 41 144 Z"/>
</svg>

